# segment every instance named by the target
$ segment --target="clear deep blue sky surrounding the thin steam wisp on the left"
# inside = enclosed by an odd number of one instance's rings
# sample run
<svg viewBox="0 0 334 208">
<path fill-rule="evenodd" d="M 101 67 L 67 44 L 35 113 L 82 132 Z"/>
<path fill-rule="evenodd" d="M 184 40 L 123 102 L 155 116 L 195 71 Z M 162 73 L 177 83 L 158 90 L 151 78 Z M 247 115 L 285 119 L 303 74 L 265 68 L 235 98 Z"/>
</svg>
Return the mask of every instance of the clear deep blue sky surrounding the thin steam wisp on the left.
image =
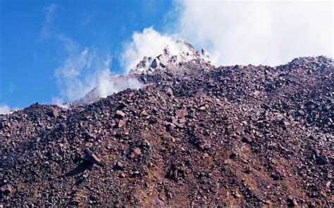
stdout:
<svg viewBox="0 0 334 208">
<path fill-rule="evenodd" d="M 0 1 L 0 103 L 22 108 L 57 96 L 55 69 L 68 56 L 60 37 L 78 50 L 98 48 L 116 58 L 132 32 L 163 30 L 171 1 Z"/>
</svg>

